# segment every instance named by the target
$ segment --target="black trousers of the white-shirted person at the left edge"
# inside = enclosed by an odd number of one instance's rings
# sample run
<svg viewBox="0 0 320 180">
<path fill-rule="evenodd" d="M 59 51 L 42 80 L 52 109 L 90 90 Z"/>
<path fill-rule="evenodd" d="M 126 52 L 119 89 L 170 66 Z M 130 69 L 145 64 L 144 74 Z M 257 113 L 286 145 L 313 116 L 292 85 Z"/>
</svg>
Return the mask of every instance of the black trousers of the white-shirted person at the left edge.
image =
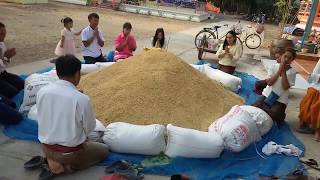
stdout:
<svg viewBox="0 0 320 180">
<path fill-rule="evenodd" d="M 24 80 L 18 75 L 4 71 L 0 74 L 0 94 L 12 98 L 24 89 Z"/>
</svg>

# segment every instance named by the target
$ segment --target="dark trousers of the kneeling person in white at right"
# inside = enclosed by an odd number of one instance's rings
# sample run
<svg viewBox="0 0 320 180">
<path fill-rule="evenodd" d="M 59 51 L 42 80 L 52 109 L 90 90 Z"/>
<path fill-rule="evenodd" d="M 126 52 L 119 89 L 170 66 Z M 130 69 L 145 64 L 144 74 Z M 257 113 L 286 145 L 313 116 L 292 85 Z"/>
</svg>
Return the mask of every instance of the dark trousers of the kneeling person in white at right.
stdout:
<svg viewBox="0 0 320 180">
<path fill-rule="evenodd" d="M 278 125 L 282 125 L 284 119 L 286 118 L 286 108 L 287 105 L 276 101 L 271 107 L 265 102 L 266 97 L 262 96 L 257 102 L 252 104 L 252 106 L 258 107 L 265 111 L 269 116 L 277 122 Z"/>
</svg>

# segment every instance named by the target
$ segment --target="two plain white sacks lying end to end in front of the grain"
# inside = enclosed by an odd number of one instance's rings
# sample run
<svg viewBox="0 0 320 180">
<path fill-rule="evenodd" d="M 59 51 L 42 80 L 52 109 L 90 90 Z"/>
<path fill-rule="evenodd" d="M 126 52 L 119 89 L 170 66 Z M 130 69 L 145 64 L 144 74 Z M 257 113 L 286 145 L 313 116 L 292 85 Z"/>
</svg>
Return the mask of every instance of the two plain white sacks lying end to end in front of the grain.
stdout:
<svg viewBox="0 0 320 180">
<path fill-rule="evenodd" d="M 169 157 L 217 158 L 224 149 L 219 134 L 167 125 L 133 125 L 124 122 L 106 127 L 103 141 L 118 153 L 157 155 L 165 151 Z"/>
</svg>

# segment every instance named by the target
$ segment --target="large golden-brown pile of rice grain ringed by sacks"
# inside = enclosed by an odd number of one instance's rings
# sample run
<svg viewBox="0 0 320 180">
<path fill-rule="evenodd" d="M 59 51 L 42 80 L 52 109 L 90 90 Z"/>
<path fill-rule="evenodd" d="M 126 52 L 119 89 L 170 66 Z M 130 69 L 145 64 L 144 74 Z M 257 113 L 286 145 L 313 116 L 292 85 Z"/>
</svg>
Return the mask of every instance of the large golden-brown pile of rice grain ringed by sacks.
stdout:
<svg viewBox="0 0 320 180">
<path fill-rule="evenodd" d="M 148 51 L 84 76 L 97 119 L 207 130 L 243 99 L 172 53 Z"/>
</svg>

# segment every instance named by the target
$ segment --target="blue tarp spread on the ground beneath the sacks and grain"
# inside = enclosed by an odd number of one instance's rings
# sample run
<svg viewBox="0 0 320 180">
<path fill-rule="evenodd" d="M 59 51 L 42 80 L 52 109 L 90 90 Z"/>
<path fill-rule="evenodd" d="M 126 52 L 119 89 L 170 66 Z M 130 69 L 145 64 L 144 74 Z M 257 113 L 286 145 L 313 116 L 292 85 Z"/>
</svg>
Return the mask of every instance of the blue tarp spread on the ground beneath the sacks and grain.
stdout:
<svg viewBox="0 0 320 180">
<path fill-rule="evenodd" d="M 259 96 L 252 92 L 255 81 L 254 76 L 246 73 L 237 72 L 236 76 L 242 79 L 245 84 L 238 94 L 242 96 L 247 104 L 254 102 Z M 14 101 L 21 104 L 23 92 L 20 92 Z M 37 123 L 25 118 L 18 125 L 6 126 L 4 133 L 15 139 L 37 141 Z M 173 175 L 183 173 L 192 179 L 258 179 L 262 176 L 284 177 L 295 169 L 303 169 L 303 165 L 297 157 L 288 157 L 285 155 L 263 155 L 262 147 L 269 141 L 278 144 L 294 144 L 304 151 L 304 145 L 299 141 L 290 130 L 286 123 L 281 128 L 274 125 L 269 133 L 256 144 L 252 144 L 240 153 L 224 151 L 220 158 L 216 159 L 190 159 L 174 158 L 168 165 L 145 167 L 144 172 L 158 175 Z M 257 153 L 259 152 L 259 154 Z M 101 165 L 108 165 L 116 160 L 130 160 L 133 163 L 139 163 L 148 156 L 110 153 Z"/>
</svg>

